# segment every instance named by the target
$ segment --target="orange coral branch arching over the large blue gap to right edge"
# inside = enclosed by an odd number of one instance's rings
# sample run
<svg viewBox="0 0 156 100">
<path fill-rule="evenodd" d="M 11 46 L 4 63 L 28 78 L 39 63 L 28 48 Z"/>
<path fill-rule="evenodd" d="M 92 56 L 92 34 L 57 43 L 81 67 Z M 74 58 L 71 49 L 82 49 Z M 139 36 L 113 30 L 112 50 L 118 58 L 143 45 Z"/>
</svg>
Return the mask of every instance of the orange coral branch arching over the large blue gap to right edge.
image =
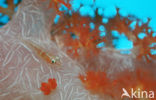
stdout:
<svg viewBox="0 0 156 100">
<path fill-rule="evenodd" d="M 156 42 L 156 38 L 152 36 L 154 33 L 153 31 L 148 32 L 148 30 L 151 29 L 148 26 L 150 19 L 148 18 L 148 21 L 146 23 L 142 23 L 142 25 L 139 25 L 139 22 L 137 21 L 134 30 L 131 30 L 129 27 L 131 22 L 132 20 L 130 20 L 128 17 L 125 18 L 119 15 L 119 9 L 117 9 L 117 15 L 114 18 L 109 19 L 109 23 L 106 24 L 105 27 L 108 31 L 117 30 L 119 33 L 124 32 L 124 34 L 134 42 L 134 47 L 138 48 L 138 52 L 136 54 L 138 59 L 142 58 L 143 56 L 148 62 L 150 61 L 149 57 L 155 59 L 156 57 L 151 55 L 150 45 Z M 147 37 L 141 40 L 139 39 L 138 34 L 142 32 L 145 33 Z"/>
</svg>

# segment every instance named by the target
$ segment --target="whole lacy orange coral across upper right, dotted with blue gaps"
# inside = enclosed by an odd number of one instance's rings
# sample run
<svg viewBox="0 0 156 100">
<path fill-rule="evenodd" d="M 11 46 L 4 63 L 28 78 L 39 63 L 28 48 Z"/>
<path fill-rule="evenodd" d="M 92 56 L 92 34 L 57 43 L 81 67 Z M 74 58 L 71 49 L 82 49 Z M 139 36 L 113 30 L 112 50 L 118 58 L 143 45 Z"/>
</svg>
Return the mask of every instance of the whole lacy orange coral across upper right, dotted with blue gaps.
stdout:
<svg viewBox="0 0 156 100">
<path fill-rule="evenodd" d="M 71 39 L 71 37 L 67 36 L 68 39 L 62 39 L 65 46 L 70 46 L 73 48 L 73 51 L 76 55 L 78 55 L 77 50 L 83 48 L 86 52 L 83 55 L 87 55 L 90 57 L 90 54 L 98 54 L 100 49 L 96 48 L 96 45 L 100 42 L 105 42 L 106 46 L 112 47 L 113 36 L 111 31 L 116 30 L 119 33 L 124 33 L 130 40 L 134 42 L 134 49 L 137 52 L 134 52 L 138 59 L 145 56 L 146 60 L 149 62 L 149 57 L 155 59 L 154 55 L 151 55 L 151 45 L 153 42 L 156 42 L 156 39 L 152 37 L 152 32 L 149 33 L 149 29 L 151 29 L 148 24 L 150 19 L 146 23 L 142 23 L 139 25 L 139 21 L 137 18 L 131 18 L 132 16 L 123 17 L 119 14 L 119 9 L 117 9 L 117 15 L 114 18 L 109 18 L 109 22 L 106 24 L 102 23 L 102 18 L 99 16 L 95 17 L 95 21 L 90 19 L 89 17 L 82 17 L 78 13 L 73 13 L 72 16 L 65 15 L 64 22 L 59 24 L 59 28 L 61 30 L 66 30 L 67 34 L 74 34 L 78 37 L 78 39 Z M 75 20 L 76 19 L 76 20 Z M 89 23 L 93 21 L 96 26 L 94 30 L 91 30 L 89 27 Z M 137 21 L 135 29 L 130 28 L 130 24 L 132 21 Z M 106 28 L 106 36 L 105 38 L 101 38 L 99 33 L 99 25 L 104 25 Z M 58 25 L 56 25 L 57 27 Z M 68 28 L 66 27 L 68 26 Z M 138 38 L 138 34 L 141 32 L 146 33 L 148 37 L 145 37 L 143 40 Z M 64 38 L 67 35 L 63 35 Z M 61 37 L 61 36 L 60 36 Z M 69 39 L 70 38 L 70 39 Z M 60 40 L 61 41 L 61 40 Z M 69 43 L 73 42 L 73 43 Z M 72 51 L 72 50 L 70 50 Z M 148 57 L 149 56 L 149 57 Z"/>
</svg>

